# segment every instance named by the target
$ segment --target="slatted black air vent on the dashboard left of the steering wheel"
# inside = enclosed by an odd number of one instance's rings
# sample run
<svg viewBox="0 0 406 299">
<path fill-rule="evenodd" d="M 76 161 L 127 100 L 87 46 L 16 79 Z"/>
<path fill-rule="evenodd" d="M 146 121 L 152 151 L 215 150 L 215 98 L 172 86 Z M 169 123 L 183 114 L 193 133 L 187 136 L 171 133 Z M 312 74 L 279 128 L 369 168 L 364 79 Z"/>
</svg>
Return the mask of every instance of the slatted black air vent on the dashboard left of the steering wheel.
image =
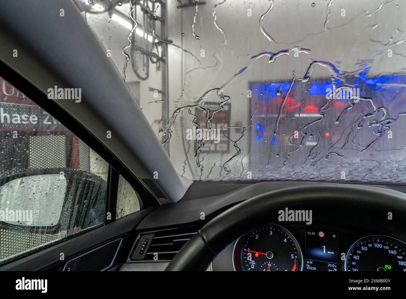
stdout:
<svg viewBox="0 0 406 299">
<path fill-rule="evenodd" d="M 144 260 L 172 260 L 181 247 L 192 238 L 201 226 L 183 229 L 167 229 L 155 232 L 147 248 Z M 155 260 L 156 260 L 155 258 Z"/>
</svg>

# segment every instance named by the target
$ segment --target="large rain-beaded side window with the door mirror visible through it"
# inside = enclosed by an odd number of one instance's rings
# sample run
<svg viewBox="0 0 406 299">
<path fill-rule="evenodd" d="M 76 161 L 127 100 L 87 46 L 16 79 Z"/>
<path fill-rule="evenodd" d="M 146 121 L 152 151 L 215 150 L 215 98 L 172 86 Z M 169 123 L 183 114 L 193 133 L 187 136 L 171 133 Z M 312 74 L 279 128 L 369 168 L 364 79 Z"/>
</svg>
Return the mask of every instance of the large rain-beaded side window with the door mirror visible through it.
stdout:
<svg viewBox="0 0 406 299">
<path fill-rule="evenodd" d="M 106 161 L 0 77 L 0 264 L 104 225 L 107 176 Z"/>
</svg>

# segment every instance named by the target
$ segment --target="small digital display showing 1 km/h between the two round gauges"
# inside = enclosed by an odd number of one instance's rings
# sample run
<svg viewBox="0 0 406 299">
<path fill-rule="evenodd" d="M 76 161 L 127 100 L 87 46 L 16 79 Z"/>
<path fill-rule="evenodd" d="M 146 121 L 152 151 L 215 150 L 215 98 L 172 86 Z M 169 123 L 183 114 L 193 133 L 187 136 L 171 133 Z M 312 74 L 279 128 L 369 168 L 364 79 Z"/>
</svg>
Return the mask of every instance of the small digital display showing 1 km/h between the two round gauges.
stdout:
<svg viewBox="0 0 406 299">
<path fill-rule="evenodd" d="M 304 271 L 339 271 L 337 234 L 307 229 Z"/>
</svg>

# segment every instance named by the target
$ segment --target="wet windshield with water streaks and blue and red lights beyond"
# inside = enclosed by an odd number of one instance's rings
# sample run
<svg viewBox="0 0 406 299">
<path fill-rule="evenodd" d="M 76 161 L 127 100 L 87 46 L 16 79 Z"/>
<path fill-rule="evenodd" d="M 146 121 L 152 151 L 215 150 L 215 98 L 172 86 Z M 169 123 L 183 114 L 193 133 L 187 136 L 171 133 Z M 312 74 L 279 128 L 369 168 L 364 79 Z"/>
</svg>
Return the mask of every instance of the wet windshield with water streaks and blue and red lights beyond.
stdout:
<svg viewBox="0 0 406 299">
<path fill-rule="evenodd" d="M 177 172 L 405 183 L 404 0 L 76 0 Z"/>
</svg>

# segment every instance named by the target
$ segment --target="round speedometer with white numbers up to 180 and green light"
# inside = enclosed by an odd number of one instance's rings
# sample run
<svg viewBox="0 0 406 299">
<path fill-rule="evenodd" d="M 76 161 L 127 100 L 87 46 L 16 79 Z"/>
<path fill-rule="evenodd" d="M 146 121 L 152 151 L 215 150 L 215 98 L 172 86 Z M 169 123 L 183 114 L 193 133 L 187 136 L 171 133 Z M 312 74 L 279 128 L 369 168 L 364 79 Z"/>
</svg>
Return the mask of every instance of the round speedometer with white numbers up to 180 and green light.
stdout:
<svg viewBox="0 0 406 299">
<path fill-rule="evenodd" d="M 346 271 L 406 271 L 406 244 L 387 236 L 367 236 L 347 253 Z"/>
</svg>

